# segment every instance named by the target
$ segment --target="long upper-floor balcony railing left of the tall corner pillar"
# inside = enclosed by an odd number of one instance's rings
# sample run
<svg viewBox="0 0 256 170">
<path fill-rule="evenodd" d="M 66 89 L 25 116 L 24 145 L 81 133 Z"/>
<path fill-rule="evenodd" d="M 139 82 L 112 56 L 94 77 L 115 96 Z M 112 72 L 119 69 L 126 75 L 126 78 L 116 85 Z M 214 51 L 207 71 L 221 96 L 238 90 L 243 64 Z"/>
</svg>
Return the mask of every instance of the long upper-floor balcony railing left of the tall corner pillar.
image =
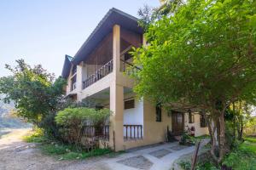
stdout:
<svg viewBox="0 0 256 170">
<path fill-rule="evenodd" d="M 90 75 L 87 79 L 83 82 L 83 89 L 89 87 L 94 82 L 102 79 L 102 77 L 106 77 L 110 72 L 113 71 L 113 60 L 108 61 L 106 65 L 103 65 L 102 68 L 97 70 L 95 74 Z"/>
</svg>

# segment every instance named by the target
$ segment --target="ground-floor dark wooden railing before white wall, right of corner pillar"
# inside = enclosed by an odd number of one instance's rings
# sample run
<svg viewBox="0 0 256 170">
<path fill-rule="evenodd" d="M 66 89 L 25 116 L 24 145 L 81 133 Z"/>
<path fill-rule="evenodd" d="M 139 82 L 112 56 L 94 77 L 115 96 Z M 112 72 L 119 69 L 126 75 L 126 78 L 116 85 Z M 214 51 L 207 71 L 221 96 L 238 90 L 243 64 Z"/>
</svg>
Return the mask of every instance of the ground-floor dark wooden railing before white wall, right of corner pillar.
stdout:
<svg viewBox="0 0 256 170">
<path fill-rule="evenodd" d="M 143 125 L 124 125 L 124 140 L 143 139 Z"/>
</svg>

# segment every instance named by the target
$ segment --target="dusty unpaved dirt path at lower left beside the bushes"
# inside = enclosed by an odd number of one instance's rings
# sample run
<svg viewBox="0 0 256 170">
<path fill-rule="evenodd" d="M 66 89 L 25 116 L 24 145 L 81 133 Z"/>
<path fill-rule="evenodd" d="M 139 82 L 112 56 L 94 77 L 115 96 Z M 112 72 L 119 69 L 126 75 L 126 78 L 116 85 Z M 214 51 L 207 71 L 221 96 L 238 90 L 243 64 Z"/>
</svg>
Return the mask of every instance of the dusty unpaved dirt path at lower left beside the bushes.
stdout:
<svg viewBox="0 0 256 170">
<path fill-rule="evenodd" d="M 106 169 L 101 160 L 93 158 L 86 161 L 57 161 L 54 157 L 44 156 L 35 144 L 22 141 L 22 136 L 31 129 L 15 129 L 3 135 L 0 139 L 0 169 L 1 170 L 51 170 L 51 169 Z M 104 158 L 103 158 L 104 159 Z"/>
</svg>

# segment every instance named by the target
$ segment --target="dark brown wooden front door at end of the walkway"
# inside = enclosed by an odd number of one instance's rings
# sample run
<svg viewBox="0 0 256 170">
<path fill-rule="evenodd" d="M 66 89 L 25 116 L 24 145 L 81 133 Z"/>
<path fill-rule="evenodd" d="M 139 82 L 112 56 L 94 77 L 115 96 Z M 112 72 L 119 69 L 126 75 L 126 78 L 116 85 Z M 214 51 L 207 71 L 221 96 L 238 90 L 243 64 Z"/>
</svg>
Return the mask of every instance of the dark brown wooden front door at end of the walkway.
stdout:
<svg viewBox="0 0 256 170">
<path fill-rule="evenodd" d="M 181 135 L 184 130 L 183 113 L 172 112 L 172 133 L 174 135 Z"/>
</svg>

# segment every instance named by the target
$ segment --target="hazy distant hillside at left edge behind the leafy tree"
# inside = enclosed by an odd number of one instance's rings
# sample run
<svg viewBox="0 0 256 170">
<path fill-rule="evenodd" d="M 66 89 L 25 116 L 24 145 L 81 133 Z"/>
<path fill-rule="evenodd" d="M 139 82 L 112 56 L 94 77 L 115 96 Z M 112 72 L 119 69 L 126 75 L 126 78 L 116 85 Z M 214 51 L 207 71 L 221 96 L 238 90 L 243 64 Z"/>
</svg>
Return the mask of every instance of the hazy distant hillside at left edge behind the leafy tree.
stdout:
<svg viewBox="0 0 256 170">
<path fill-rule="evenodd" d="M 23 122 L 20 118 L 12 116 L 11 112 L 15 110 L 13 103 L 4 104 L 0 99 L 0 128 L 21 128 L 31 127 L 29 123 Z"/>
</svg>

